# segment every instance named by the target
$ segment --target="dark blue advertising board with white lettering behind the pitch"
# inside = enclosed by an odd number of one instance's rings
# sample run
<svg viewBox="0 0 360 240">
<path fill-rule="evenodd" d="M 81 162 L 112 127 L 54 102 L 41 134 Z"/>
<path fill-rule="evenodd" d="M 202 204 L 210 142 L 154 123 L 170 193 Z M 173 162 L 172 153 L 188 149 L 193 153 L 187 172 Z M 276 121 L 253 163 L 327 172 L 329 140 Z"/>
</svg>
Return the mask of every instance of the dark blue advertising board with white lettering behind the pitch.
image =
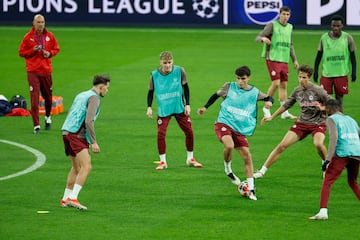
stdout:
<svg viewBox="0 0 360 240">
<path fill-rule="evenodd" d="M 291 23 L 328 25 L 334 14 L 360 26 L 360 0 L 1 0 L 0 24 L 26 23 L 41 13 L 52 23 L 77 25 L 265 25 L 279 9 Z"/>
</svg>

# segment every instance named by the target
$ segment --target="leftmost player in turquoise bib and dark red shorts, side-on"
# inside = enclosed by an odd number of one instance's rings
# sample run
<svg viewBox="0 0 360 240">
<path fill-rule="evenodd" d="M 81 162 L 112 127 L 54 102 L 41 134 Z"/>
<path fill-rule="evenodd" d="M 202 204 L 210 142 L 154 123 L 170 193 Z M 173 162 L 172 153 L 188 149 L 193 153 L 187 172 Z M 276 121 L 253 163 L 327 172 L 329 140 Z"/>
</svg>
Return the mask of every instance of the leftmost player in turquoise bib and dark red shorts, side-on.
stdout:
<svg viewBox="0 0 360 240">
<path fill-rule="evenodd" d="M 93 153 L 100 153 L 94 122 L 100 112 L 100 98 L 107 94 L 109 85 L 110 78 L 108 76 L 95 75 L 92 89 L 81 92 L 75 97 L 61 127 L 65 154 L 70 157 L 72 163 L 64 195 L 60 201 L 62 207 L 87 209 L 78 201 L 78 195 L 91 171 L 89 145 L 91 145 Z"/>
</svg>

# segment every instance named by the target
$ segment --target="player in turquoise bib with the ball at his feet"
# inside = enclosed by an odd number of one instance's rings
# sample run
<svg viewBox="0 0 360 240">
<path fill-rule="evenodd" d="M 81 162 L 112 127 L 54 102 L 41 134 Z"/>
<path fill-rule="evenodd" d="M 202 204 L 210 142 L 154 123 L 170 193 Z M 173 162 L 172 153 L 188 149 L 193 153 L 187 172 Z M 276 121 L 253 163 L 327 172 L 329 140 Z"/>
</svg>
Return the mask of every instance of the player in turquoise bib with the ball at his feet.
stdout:
<svg viewBox="0 0 360 240">
<path fill-rule="evenodd" d="M 247 66 L 235 70 L 236 82 L 226 82 L 214 93 L 204 107 L 197 110 L 203 115 L 206 110 L 219 98 L 221 103 L 220 112 L 215 123 L 215 133 L 224 145 L 225 174 L 235 185 L 240 185 L 240 179 L 231 169 L 232 151 L 234 148 L 244 160 L 244 170 L 249 184 L 249 199 L 257 200 L 253 177 L 253 163 L 249 150 L 247 136 L 251 136 L 256 127 L 257 101 L 265 101 L 265 105 L 271 107 L 274 102 L 271 96 L 262 93 L 256 87 L 249 85 L 250 69 Z"/>
</svg>

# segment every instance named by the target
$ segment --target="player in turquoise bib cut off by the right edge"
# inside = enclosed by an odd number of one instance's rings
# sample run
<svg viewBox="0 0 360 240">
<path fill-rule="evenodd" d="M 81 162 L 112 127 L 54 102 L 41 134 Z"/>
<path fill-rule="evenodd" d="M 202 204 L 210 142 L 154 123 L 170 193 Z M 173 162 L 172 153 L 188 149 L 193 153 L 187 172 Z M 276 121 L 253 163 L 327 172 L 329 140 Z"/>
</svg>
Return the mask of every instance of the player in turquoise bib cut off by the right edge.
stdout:
<svg viewBox="0 0 360 240">
<path fill-rule="evenodd" d="M 360 200 L 360 186 L 357 183 L 360 161 L 360 129 L 358 123 L 350 116 L 340 112 L 341 103 L 338 100 L 329 100 L 325 105 L 328 118 L 330 140 L 326 162 L 325 178 L 321 187 L 320 211 L 310 217 L 310 220 L 328 219 L 328 201 L 332 184 L 347 168 L 348 184 L 356 197 Z"/>
</svg>

